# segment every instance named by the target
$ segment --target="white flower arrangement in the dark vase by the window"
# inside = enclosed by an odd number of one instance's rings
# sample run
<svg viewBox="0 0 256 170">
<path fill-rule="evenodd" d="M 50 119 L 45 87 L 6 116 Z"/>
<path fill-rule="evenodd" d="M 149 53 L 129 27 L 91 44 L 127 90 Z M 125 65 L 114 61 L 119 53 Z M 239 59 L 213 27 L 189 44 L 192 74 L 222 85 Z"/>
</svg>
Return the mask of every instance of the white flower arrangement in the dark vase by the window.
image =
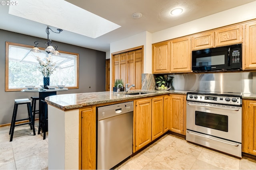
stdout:
<svg viewBox="0 0 256 170">
<path fill-rule="evenodd" d="M 38 70 L 43 74 L 44 77 L 50 77 L 54 70 L 58 67 L 56 63 L 52 62 L 52 56 L 49 55 L 45 58 L 46 62 L 42 61 L 40 57 L 36 56 L 36 60 L 39 63 Z"/>
</svg>

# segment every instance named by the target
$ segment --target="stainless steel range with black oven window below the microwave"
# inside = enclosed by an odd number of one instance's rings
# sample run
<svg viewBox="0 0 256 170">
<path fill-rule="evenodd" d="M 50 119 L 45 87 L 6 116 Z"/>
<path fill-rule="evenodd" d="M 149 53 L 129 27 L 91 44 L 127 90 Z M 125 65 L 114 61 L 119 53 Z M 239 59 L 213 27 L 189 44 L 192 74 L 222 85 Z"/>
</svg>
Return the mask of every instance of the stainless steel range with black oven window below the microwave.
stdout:
<svg viewBox="0 0 256 170">
<path fill-rule="evenodd" d="M 187 93 L 186 140 L 242 157 L 241 93 Z"/>
</svg>

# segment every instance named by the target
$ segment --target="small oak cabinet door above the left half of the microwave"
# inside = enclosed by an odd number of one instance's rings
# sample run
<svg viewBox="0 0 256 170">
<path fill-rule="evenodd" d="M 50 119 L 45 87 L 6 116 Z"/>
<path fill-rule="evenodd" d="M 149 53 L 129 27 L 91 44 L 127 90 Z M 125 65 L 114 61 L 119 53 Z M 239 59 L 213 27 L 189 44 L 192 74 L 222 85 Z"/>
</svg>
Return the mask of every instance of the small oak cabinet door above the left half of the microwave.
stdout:
<svg viewBox="0 0 256 170">
<path fill-rule="evenodd" d="M 192 37 L 192 50 L 214 47 L 214 31 L 200 33 Z"/>
</svg>

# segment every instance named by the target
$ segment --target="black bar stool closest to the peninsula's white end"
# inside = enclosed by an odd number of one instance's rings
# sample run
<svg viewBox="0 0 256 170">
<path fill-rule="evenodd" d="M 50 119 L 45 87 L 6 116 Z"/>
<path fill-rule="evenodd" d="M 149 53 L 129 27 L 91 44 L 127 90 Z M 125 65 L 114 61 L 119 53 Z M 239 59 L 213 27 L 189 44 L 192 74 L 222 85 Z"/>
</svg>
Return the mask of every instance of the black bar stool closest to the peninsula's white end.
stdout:
<svg viewBox="0 0 256 170">
<path fill-rule="evenodd" d="M 39 118 L 38 135 L 40 134 L 41 128 L 44 133 L 43 139 L 46 137 L 46 131 L 48 131 L 48 106 L 44 100 L 41 100 L 42 112 Z"/>
</svg>

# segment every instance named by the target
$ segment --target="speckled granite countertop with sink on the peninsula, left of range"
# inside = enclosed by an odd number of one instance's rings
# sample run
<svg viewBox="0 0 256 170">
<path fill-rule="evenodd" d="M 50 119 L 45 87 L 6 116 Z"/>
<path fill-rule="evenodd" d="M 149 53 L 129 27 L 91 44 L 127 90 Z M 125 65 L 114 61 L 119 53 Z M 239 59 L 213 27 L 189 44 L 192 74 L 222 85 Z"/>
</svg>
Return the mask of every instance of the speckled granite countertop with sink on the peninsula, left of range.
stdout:
<svg viewBox="0 0 256 170">
<path fill-rule="evenodd" d="M 147 92 L 147 94 L 129 95 L 134 92 Z M 79 109 L 84 106 L 105 104 L 110 102 L 122 102 L 124 100 L 138 99 L 162 94 L 186 94 L 185 90 L 130 90 L 129 92 L 90 92 L 77 94 L 60 94 L 45 98 L 47 104 L 64 111 Z"/>
</svg>

